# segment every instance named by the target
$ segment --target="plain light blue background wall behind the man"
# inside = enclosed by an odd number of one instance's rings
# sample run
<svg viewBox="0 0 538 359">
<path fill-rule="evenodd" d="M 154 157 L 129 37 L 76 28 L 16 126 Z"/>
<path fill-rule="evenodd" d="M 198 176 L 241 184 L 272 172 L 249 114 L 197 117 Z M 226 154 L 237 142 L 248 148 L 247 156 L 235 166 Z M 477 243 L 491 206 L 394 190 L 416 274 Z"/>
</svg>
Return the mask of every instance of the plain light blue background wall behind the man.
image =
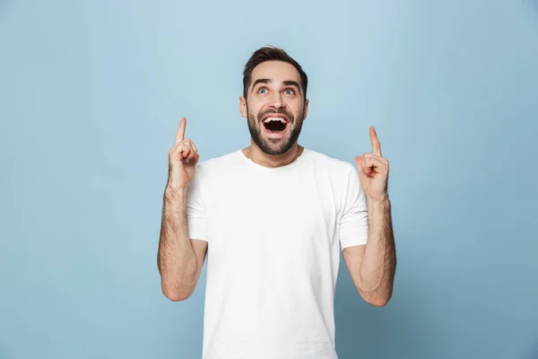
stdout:
<svg viewBox="0 0 538 359">
<path fill-rule="evenodd" d="M 382 309 L 341 265 L 341 359 L 538 357 L 538 2 L 0 1 L 0 358 L 199 358 L 156 266 L 181 116 L 202 160 L 249 144 L 251 53 L 310 79 L 301 144 L 391 164 Z"/>
</svg>

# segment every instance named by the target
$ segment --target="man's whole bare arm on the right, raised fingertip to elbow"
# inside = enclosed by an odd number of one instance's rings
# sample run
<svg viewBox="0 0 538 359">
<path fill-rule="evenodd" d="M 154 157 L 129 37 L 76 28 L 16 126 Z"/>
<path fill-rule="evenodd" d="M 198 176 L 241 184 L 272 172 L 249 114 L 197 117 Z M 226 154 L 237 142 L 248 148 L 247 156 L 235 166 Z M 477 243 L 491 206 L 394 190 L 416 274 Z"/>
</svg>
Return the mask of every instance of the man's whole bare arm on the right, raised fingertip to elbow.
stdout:
<svg viewBox="0 0 538 359">
<path fill-rule="evenodd" d="M 370 139 L 372 153 L 355 157 L 368 204 L 368 241 L 365 245 L 345 248 L 343 258 L 360 296 L 372 305 L 384 306 L 394 287 L 395 237 L 387 194 L 388 160 L 381 154 L 373 127 L 370 127 Z"/>
</svg>

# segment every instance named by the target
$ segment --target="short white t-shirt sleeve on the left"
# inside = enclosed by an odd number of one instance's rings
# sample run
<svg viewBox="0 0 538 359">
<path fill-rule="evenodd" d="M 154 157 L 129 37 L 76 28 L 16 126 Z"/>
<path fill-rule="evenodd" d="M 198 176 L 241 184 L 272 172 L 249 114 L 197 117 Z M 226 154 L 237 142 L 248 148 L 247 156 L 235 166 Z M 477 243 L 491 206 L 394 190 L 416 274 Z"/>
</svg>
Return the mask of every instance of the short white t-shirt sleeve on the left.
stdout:
<svg viewBox="0 0 538 359">
<path fill-rule="evenodd" d="M 192 240 L 207 241 L 205 231 L 204 201 L 202 200 L 201 171 L 197 167 L 195 178 L 187 192 L 187 228 Z"/>
</svg>

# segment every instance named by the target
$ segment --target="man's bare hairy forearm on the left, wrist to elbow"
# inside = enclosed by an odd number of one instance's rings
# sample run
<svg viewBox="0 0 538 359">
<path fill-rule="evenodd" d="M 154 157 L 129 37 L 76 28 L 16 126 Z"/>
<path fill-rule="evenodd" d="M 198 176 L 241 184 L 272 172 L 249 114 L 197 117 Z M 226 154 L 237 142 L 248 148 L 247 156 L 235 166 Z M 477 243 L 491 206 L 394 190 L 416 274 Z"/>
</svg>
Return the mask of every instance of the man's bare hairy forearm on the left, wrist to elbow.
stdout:
<svg viewBox="0 0 538 359">
<path fill-rule="evenodd" d="M 187 228 L 187 190 L 167 189 L 157 261 L 162 291 L 170 299 L 188 297 L 196 284 L 197 264 Z"/>
</svg>

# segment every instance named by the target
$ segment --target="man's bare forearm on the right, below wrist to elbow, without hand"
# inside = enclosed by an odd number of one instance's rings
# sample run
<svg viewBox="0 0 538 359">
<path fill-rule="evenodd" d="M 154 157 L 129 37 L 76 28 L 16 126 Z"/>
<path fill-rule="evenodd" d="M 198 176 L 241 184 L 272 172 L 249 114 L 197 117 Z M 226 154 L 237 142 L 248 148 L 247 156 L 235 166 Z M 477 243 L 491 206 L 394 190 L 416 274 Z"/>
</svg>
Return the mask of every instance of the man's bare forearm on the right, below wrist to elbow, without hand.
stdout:
<svg viewBox="0 0 538 359">
<path fill-rule="evenodd" d="M 369 236 L 360 263 L 360 289 L 371 302 L 383 305 L 392 296 L 396 269 L 390 201 L 369 199 L 368 208 Z"/>
</svg>

